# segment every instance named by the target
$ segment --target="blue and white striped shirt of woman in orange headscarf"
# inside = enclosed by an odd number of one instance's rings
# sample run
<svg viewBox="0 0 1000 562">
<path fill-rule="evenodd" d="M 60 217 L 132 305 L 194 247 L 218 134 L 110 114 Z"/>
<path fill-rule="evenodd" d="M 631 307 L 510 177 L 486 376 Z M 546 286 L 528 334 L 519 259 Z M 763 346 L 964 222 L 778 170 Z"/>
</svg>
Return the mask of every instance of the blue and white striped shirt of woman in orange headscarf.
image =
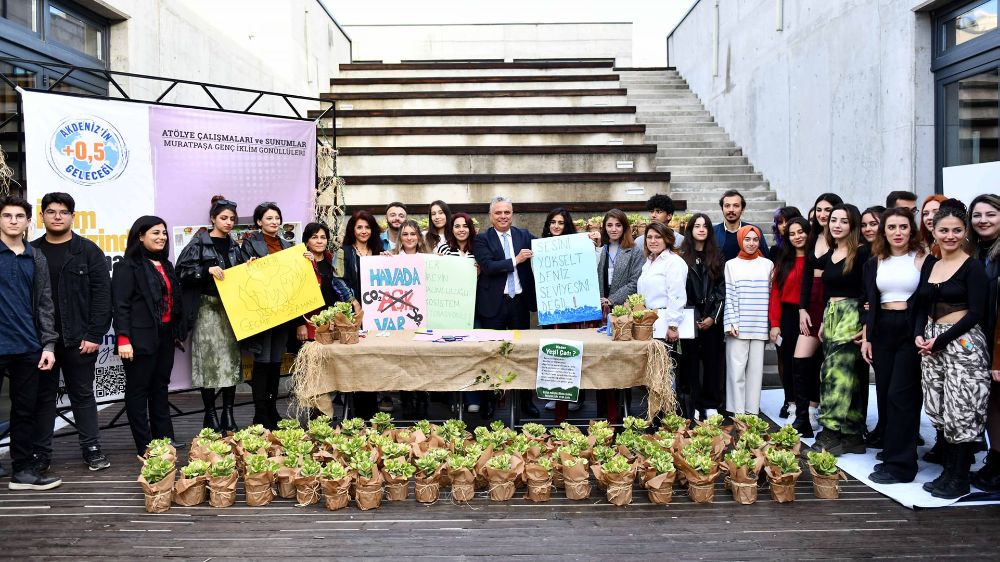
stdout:
<svg viewBox="0 0 1000 562">
<path fill-rule="evenodd" d="M 773 268 L 767 258 L 726 262 L 723 325 L 727 332 L 735 327 L 740 339 L 768 339 L 767 305 Z"/>
</svg>

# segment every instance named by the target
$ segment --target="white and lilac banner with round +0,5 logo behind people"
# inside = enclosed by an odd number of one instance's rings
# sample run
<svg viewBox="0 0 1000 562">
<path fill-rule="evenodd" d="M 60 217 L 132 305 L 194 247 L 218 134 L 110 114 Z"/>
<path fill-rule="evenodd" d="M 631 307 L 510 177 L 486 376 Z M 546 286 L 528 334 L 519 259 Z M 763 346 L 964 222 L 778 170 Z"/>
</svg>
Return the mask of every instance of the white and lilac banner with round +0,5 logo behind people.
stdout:
<svg viewBox="0 0 1000 562">
<path fill-rule="evenodd" d="M 108 271 L 125 251 L 141 215 L 168 229 L 208 221 L 213 195 L 239 203 L 240 222 L 254 207 L 276 203 L 284 222 L 308 222 L 316 170 L 310 121 L 154 106 L 19 90 L 24 109 L 28 200 L 36 205 L 32 237 L 44 234 L 42 196 L 63 191 L 76 200 L 74 230 L 107 256 Z M 181 248 L 171 246 L 176 256 Z M 99 401 L 121 398 L 125 375 L 101 342 Z M 190 355 L 176 357 L 171 388 L 189 388 Z"/>
</svg>

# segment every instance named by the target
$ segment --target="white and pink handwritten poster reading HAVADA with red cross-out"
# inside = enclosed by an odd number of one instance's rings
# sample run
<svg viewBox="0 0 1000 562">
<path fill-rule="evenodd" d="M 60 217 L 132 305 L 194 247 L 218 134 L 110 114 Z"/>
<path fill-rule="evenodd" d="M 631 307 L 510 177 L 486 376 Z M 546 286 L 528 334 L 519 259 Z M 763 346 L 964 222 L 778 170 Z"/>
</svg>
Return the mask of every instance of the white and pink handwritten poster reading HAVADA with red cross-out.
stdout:
<svg viewBox="0 0 1000 562">
<path fill-rule="evenodd" d="M 422 254 L 361 258 L 361 308 L 366 330 L 416 330 L 427 325 Z"/>
</svg>

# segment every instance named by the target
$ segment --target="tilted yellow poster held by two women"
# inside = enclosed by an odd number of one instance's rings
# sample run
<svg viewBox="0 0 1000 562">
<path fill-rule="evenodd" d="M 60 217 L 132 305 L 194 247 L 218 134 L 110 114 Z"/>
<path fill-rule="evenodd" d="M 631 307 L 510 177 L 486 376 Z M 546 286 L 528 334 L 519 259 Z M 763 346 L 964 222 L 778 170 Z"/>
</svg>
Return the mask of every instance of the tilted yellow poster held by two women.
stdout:
<svg viewBox="0 0 1000 562">
<path fill-rule="evenodd" d="M 226 270 L 215 280 L 222 305 L 242 340 L 323 306 L 304 244 Z"/>
</svg>

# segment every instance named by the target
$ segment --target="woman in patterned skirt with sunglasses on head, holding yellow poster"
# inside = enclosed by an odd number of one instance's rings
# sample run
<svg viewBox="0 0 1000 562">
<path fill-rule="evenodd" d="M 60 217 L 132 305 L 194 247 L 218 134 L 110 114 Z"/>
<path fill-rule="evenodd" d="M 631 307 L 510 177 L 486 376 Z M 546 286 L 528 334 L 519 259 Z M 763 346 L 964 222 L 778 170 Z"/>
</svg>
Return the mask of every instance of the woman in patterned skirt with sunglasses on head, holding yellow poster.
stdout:
<svg viewBox="0 0 1000 562">
<path fill-rule="evenodd" d="M 210 231 L 199 231 L 177 257 L 177 277 L 184 286 L 184 310 L 191 335 L 191 383 L 201 387 L 204 427 L 236 431 L 233 404 L 236 385 L 243 382 L 240 347 L 219 298 L 216 280 L 225 270 L 244 262 L 240 247 L 229 236 L 236 226 L 236 202 L 212 197 Z M 222 394 L 222 422 L 215 413 L 215 395 Z"/>
</svg>

